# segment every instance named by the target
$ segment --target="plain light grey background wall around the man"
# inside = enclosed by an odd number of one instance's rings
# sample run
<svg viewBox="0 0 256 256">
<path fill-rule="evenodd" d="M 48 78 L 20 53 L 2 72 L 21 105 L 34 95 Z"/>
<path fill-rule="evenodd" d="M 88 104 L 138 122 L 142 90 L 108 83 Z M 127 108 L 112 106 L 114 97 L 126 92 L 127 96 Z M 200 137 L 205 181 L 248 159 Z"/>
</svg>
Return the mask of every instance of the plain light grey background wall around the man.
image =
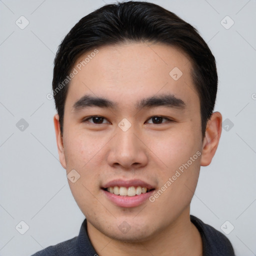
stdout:
<svg viewBox="0 0 256 256">
<path fill-rule="evenodd" d="M 58 161 L 54 102 L 46 94 L 64 35 L 110 2 L 0 0 L 0 255 L 30 255 L 78 234 L 84 216 Z M 236 255 L 256 255 L 256 1 L 152 2 L 194 25 L 208 42 L 219 75 L 215 110 L 234 124 L 222 129 L 212 163 L 201 167 L 191 214 L 221 232 L 228 220 Z M 15 24 L 21 15 L 29 21 L 24 29 Z M 223 25 L 230 19 L 221 24 L 226 15 L 234 21 L 229 29 Z M 21 118 L 29 124 L 23 131 L 16 127 Z M 21 220 L 29 226 L 24 234 L 15 228 Z"/>
</svg>

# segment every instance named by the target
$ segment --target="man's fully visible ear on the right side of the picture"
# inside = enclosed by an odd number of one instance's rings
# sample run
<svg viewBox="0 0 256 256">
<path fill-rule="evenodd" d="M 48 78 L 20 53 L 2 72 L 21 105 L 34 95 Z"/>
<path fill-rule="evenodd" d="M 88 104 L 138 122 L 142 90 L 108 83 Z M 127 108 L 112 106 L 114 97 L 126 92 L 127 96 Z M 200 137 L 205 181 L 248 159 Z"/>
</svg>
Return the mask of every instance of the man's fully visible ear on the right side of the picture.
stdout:
<svg viewBox="0 0 256 256">
<path fill-rule="evenodd" d="M 207 121 L 205 136 L 202 143 L 201 166 L 210 164 L 220 138 L 222 128 L 222 115 L 220 112 L 212 113 L 210 119 Z"/>
</svg>

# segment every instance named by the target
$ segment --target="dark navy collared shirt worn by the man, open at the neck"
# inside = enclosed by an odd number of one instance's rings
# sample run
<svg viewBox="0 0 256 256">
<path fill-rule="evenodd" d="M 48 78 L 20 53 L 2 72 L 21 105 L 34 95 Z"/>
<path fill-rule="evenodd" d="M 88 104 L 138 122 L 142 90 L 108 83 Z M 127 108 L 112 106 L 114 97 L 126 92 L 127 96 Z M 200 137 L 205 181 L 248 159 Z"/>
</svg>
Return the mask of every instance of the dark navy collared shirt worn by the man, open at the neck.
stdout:
<svg viewBox="0 0 256 256">
<path fill-rule="evenodd" d="M 199 218 L 190 215 L 191 222 L 200 232 L 203 246 L 203 256 L 235 256 L 233 247 L 228 238 L 213 228 L 203 223 Z M 98 256 L 93 248 L 87 233 L 87 221 L 81 224 L 78 236 L 72 239 L 51 245 L 40 250 L 32 256 Z"/>
</svg>

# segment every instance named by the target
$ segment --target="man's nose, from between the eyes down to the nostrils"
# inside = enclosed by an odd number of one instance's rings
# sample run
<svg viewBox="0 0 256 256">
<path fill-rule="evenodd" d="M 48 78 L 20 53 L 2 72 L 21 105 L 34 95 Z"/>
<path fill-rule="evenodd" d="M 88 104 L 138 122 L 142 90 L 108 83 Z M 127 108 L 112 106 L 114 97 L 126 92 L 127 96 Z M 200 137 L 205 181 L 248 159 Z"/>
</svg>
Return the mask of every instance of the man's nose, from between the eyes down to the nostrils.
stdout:
<svg viewBox="0 0 256 256">
<path fill-rule="evenodd" d="M 132 125 L 126 131 L 117 127 L 117 134 L 111 139 L 109 147 L 107 162 L 112 167 L 132 169 L 145 166 L 148 162 L 147 147 Z"/>
</svg>

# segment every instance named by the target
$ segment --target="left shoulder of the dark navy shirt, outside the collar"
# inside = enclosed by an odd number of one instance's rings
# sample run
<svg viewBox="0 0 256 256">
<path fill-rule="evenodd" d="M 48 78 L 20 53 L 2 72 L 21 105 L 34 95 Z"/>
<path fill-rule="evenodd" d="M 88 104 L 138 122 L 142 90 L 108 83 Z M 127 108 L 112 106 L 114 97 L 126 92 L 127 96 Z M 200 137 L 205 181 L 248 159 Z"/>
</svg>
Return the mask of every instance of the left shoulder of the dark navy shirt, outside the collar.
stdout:
<svg viewBox="0 0 256 256">
<path fill-rule="evenodd" d="M 77 236 L 57 243 L 55 245 L 48 246 L 42 250 L 35 252 L 31 256 L 55 256 L 55 255 L 74 255 L 75 254 L 75 243 L 76 243 Z"/>
</svg>

